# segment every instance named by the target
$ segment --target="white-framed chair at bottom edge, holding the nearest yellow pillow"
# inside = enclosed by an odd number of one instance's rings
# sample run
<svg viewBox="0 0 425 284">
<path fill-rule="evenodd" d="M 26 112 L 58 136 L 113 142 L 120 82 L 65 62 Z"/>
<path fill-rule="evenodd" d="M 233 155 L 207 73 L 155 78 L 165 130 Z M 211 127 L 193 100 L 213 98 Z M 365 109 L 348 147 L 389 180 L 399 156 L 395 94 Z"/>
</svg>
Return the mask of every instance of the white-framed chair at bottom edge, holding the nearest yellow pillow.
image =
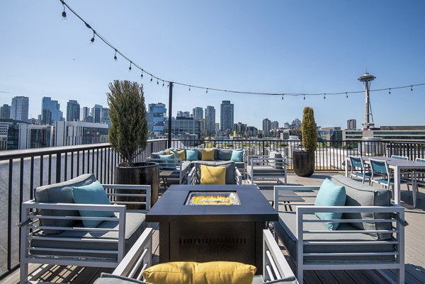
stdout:
<svg viewBox="0 0 425 284">
<path fill-rule="evenodd" d="M 103 274 L 94 284 L 141 283 L 132 281 L 144 280 L 142 272 L 152 266 L 152 234 L 152 228 L 145 229 L 115 271 L 112 274 Z M 204 280 L 203 283 L 213 283 Z M 269 281 L 280 284 L 298 284 L 273 235 L 265 229 L 263 230 L 263 275 L 254 276 L 252 283 L 262 284 Z"/>
</svg>

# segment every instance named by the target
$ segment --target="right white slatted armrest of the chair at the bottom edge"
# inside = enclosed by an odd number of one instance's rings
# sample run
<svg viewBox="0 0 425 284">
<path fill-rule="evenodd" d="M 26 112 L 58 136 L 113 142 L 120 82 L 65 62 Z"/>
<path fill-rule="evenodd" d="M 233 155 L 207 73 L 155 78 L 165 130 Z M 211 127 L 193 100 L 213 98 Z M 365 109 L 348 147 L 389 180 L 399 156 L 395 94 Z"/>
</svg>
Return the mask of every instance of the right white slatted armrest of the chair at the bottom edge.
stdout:
<svg viewBox="0 0 425 284">
<path fill-rule="evenodd" d="M 288 261 L 268 229 L 263 230 L 263 278 L 264 281 L 273 281 L 282 278 L 293 278 L 295 275 Z M 296 281 L 296 283 L 298 283 Z"/>
</svg>

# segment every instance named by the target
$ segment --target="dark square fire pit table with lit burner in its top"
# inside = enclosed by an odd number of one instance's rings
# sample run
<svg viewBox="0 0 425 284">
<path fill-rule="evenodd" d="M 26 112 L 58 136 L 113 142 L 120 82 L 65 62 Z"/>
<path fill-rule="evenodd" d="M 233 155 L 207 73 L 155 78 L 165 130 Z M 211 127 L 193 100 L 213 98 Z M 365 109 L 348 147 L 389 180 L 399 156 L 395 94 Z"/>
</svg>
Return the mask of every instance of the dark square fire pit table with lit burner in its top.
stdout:
<svg viewBox="0 0 425 284">
<path fill-rule="evenodd" d="M 173 185 L 146 215 L 159 222 L 159 262 L 239 261 L 260 274 L 262 229 L 277 220 L 251 185 Z"/>
</svg>

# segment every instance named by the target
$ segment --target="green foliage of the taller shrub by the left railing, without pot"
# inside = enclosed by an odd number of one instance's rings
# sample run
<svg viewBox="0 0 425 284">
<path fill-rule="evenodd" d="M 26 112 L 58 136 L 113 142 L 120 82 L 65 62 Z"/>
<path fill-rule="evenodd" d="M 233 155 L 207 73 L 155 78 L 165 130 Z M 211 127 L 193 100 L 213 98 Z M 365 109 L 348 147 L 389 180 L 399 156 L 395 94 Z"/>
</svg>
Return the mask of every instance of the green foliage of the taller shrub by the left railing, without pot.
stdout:
<svg viewBox="0 0 425 284">
<path fill-rule="evenodd" d="M 134 166 L 135 157 L 146 149 L 147 121 L 143 85 L 137 82 L 114 80 L 108 96 L 109 142 L 120 154 L 120 166 Z"/>
</svg>

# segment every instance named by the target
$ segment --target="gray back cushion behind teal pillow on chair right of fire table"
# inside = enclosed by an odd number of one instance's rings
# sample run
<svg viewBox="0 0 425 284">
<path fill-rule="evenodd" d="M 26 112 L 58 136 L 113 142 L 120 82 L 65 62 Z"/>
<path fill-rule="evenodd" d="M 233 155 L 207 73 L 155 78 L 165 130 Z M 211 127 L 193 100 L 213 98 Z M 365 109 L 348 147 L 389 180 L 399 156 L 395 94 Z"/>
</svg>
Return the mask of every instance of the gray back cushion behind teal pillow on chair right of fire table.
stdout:
<svg viewBox="0 0 425 284">
<path fill-rule="evenodd" d="M 391 193 L 384 188 L 372 187 L 343 175 L 331 176 L 334 183 L 346 188 L 346 206 L 390 206 Z M 343 219 L 391 219 L 390 213 L 344 213 Z M 390 222 L 353 222 L 358 229 L 391 229 Z M 391 234 L 372 234 L 377 239 L 390 239 Z"/>
</svg>

